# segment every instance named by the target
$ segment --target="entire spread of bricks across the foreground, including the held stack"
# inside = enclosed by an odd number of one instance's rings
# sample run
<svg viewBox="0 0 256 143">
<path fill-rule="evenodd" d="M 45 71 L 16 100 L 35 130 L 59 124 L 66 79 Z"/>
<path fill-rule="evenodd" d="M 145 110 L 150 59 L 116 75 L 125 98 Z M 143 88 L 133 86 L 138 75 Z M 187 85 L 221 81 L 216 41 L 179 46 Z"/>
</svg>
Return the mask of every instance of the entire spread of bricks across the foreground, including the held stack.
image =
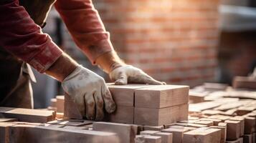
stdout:
<svg viewBox="0 0 256 143">
<path fill-rule="evenodd" d="M 108 87 L 117 111 L 104 122 L 1 107 L 0 142 L 256 142 L 256 92 L 224 84 L 204 84 L 190 92 L 174 85 Z M 66 97 L 52 99 L 49 109 L 74 115 Z"/>
</svg>

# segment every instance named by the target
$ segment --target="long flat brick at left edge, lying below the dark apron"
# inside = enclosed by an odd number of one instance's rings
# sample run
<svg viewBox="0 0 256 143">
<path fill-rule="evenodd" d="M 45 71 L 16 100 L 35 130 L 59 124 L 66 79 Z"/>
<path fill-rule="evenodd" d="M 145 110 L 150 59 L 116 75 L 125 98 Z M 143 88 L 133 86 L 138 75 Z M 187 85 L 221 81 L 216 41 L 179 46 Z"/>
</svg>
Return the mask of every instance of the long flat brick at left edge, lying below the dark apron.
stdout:
<svg viewBox="0 0 256 143">
<path fill-rule="evenodd" d="M 0 107 L 0 116 L 16 118 L 21 122 L 49 122 L 55 119 L 56 113 L 39 109 Z"/>
</svg>

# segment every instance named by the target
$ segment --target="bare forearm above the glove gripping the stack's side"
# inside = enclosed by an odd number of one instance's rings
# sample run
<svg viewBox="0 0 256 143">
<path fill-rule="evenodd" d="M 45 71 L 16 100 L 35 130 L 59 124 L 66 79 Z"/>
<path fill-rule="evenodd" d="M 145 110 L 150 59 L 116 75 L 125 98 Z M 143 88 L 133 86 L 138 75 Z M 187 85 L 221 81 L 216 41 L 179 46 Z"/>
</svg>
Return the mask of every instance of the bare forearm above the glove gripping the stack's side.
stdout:
<svg viewBox="0 0 256 143">
<path fill-rule="evenodd" d="M 76 61 L 63 53 L 62 56 L 60 56 L 60 58 L 45 71 L 45 73 L 62 82 L 77 66 L 78 64 Z"/>
</svg>

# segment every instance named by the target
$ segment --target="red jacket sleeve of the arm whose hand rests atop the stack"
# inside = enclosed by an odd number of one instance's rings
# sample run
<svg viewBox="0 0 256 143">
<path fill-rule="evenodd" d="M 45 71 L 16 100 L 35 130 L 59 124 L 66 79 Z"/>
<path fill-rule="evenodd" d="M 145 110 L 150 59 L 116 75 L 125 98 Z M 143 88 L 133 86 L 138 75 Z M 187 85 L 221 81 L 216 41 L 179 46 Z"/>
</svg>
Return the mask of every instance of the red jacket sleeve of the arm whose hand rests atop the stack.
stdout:
<svg viewBox="0 0 256 143">
<path fill-rule="evenodd" d="M 95 59 L 112 51 L 110 35 L 91 0 L 57 0 L 54 4 L 79 48 L 95 64 Z"/>
</svg>

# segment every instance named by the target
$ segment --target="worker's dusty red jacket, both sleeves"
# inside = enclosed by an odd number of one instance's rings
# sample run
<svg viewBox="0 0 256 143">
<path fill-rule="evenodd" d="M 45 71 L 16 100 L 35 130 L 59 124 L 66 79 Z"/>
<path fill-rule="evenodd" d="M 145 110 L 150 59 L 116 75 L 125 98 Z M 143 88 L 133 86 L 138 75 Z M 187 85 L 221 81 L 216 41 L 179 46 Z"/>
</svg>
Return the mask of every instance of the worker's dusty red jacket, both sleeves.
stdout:
<svg viewBox="0 0 256 143">
<path fill-rule="evenodd" d="M 41 6 L 37 5 L 37 1 Z M 44 11 L 49 11 L 54 2 L 75 43 L 92 63 L 101 54 L 113 50 L 109 33 L 105 31 L 91 0 L 30 2 L 35 5 L 25 9 L 19 0 L 0 1 L 0 48 L 26 61 L 37 71 L 46 71 L 62 54 L 62 50 L 49 35 L 42 33 L 39 26 L 47 16 Z M 35 14 L 29 14 L 27 10 Z M 42 12 L 45 14 L 40 14 Z"/>
</svg>

